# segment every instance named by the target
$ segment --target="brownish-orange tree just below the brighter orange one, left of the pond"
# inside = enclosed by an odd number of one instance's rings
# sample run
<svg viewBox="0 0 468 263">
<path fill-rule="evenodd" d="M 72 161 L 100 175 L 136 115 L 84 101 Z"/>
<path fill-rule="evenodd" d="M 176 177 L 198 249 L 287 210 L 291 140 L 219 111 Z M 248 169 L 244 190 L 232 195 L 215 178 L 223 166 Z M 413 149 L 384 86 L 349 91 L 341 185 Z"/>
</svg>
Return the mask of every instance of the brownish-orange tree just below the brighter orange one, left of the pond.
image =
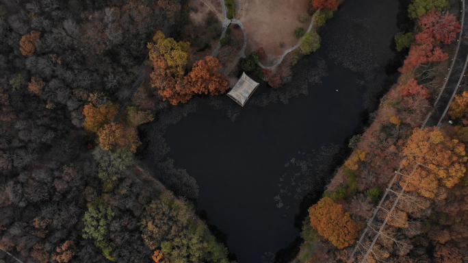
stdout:
<svg viewBox="0 0 468 263">
<path fill-rule="evenodd" d="M 135 153 L 138 145 L 141 144 L 136 129 L 122 123 L 105 124 L 99 129 L 98 136 L 99 146 L 106 151 L 126 147 Z"/>
</svg>

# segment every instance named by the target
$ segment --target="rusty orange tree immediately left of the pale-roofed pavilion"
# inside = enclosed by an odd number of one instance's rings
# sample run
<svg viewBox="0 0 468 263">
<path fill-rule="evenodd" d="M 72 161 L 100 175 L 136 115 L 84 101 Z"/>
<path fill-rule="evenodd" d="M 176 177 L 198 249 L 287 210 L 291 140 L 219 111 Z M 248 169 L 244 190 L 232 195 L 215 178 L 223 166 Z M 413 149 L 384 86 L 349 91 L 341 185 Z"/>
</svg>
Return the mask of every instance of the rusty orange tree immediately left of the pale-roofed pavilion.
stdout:
<svg viewBox="0 0 468 263">
<path fill-rule="evenodd" d="M 220 68 L 221 63 L 217 58 L 208 56 L 205 60 L 198 60 L 187 75 L 187 88 L 190 88 L 190 92 L 198 94 L 218 95 L 226 92 L 229 84 L 216 72 Z"/>
</svg>

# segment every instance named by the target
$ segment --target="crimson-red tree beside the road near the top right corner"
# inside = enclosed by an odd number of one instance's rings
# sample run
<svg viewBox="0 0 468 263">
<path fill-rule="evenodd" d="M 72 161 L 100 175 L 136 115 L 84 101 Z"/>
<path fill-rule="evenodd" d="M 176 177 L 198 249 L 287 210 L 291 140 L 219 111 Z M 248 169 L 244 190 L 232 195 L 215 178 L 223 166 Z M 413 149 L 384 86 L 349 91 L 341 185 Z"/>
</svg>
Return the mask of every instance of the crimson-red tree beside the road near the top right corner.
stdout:
<svg viewBox="0 0 468 263">
<path fill-rule="evenodd" d="M 456 34 L 460 32 L 460 24 L 454 14 L 437 12 L 435 8 L 421 16 L 418 24 L 422 29 L 422 32 L 416 35 L 416 41 L 419 44 L 439 45 L 440 42 L 443 42 L 443 44 L 449 45 L 455 40 Z"/>
</svg>

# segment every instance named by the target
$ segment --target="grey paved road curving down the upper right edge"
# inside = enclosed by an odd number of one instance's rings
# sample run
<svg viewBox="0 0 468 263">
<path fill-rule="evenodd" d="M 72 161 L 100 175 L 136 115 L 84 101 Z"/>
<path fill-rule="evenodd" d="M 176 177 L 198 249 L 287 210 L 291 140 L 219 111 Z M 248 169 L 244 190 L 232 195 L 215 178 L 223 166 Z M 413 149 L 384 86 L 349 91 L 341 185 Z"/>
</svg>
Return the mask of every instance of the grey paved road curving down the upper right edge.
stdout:
<svg viewBox="0 0 468 263">
<path fill-rule="evenodd" d="M 463 6 L 465 6 L 465 1 L 463 2 Z M 468 7 L 465 7 L 465 10 L 463 10 L 464 12 L 460 21 L 462 31 L 460 32 L 459 40 L 457 40 L 458 46 L 447 80 L 437 97 L 437 101 L 434 103 L 434 110 L 428 115 L 422 127 L 439 127 L 441 125 L 443 117 L 450 106 L 450 102 L 456 95 L 456 91 L 463 79 L 463 74 L 465 73 L 468 62 L 468 42 L 466 41 L 468 36 L 468 16 L 465 16 L 467 8 Z"/>
</svg>

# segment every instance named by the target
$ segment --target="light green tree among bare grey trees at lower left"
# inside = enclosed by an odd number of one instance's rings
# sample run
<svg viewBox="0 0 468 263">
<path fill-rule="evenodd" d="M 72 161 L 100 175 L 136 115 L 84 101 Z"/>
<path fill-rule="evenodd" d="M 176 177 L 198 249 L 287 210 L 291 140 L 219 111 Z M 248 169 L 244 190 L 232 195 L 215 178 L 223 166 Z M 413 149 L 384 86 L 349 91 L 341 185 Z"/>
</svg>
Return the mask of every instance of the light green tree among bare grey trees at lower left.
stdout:
<svg viewBox="0 0 468 263">
<path fill-rule="evenodd" d="M 105 205 L 101 199 L 98 199 L 94 203 L 88 203 L 88 211 L 83 216 L 85 225 L 83 238 L 94 239 L 94 245 L 103 251 L 105 258 L 112 261 L 114 261 L 114 258 L 110 253 L 114 248 L 114 244 L 109 242 L 107 232 L 114 215 L 112 209 Z"/>
</svg>

